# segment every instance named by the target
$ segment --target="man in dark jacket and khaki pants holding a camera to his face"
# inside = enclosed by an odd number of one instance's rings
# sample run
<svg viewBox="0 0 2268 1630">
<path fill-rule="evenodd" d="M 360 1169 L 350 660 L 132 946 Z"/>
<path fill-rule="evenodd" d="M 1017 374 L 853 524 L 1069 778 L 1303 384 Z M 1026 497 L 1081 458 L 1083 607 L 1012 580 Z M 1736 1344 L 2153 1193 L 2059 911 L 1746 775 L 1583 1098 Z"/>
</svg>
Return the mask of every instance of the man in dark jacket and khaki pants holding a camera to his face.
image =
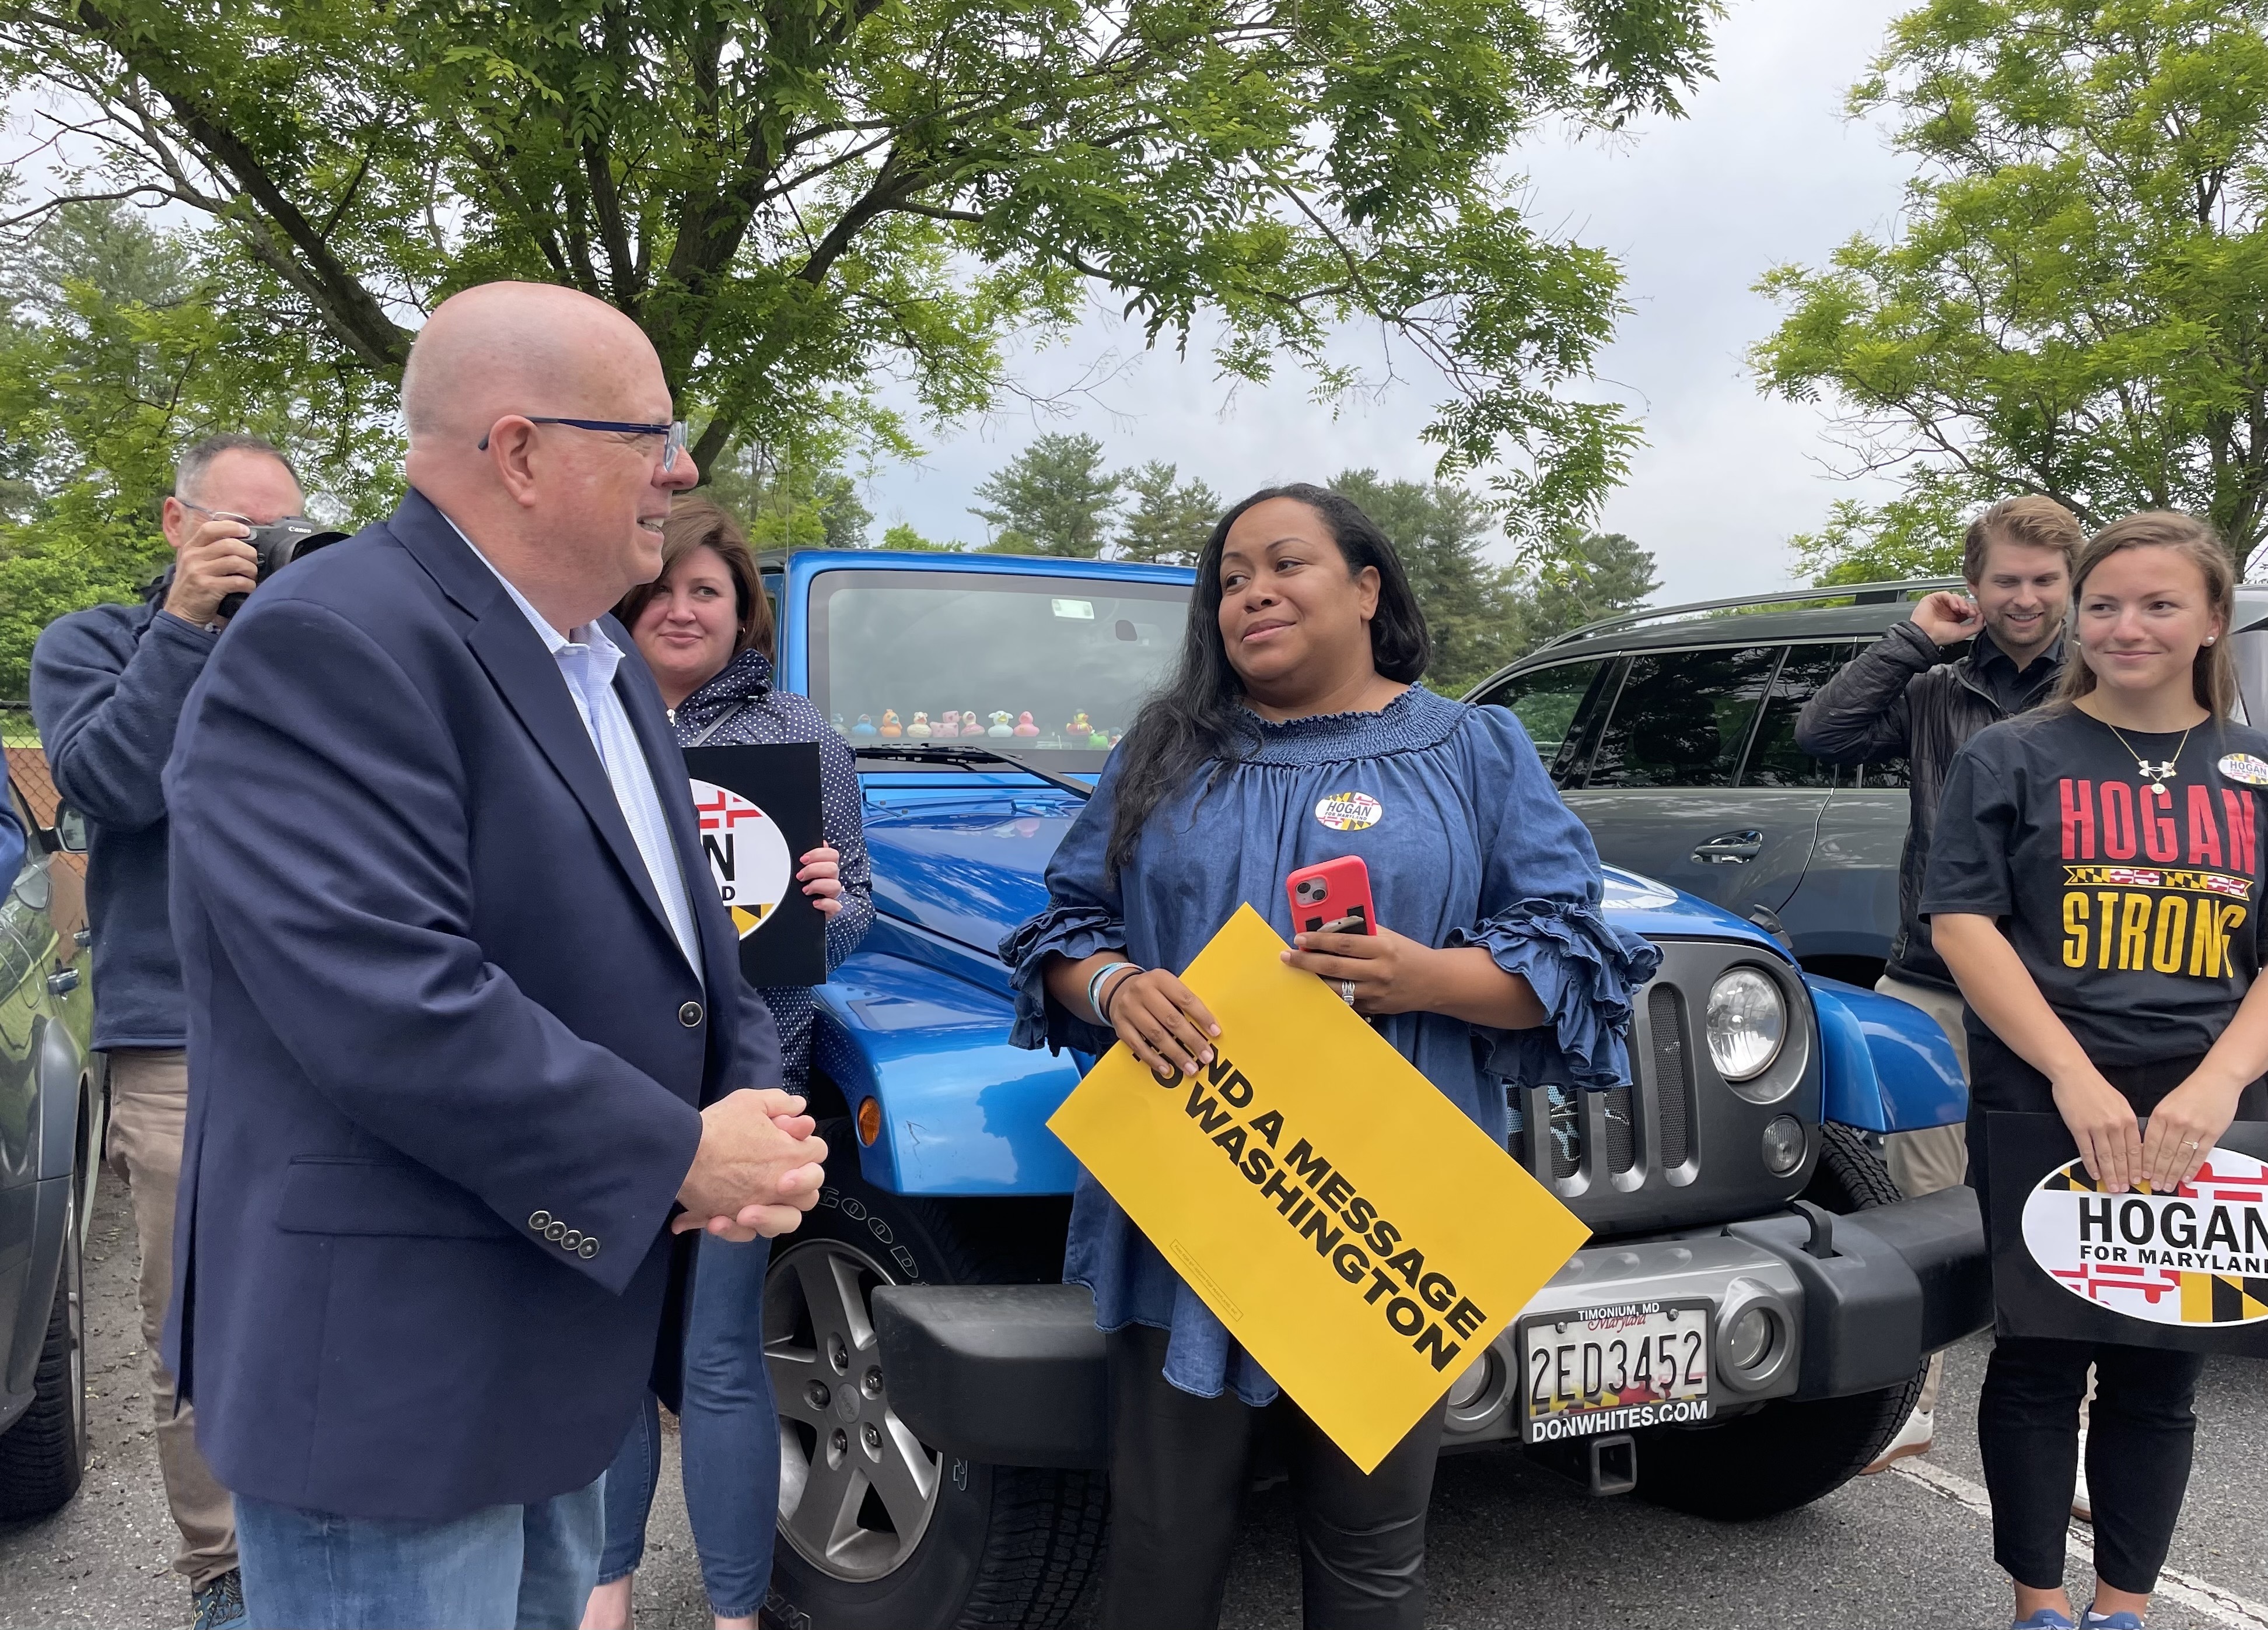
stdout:
<svg viewBox="0 0 2268 1630">
<path fill-rule="evenodd" d="M 209 435 L 175 469 L 166 542 L 175 562 L 143 605 L 54 619 L 32 651 L 32 714 L 64 800 L 86 816 L 86 907 L 95 957 L 95 1047 L 111 1061 L 113 1168 L 134 1190 L 143 1344 L 166 1503 L 181 1530 L 197 1630 L 243 1619 L 229 1492 L 197 1451 L 191 1410 L 159 1356 L 172 1294 L 172 1202 L 188 1113 L 181 963 L 166 893 L 166 800 L 188 687 L 229 614 L 277 564 L 322 535 L 299 521 L 299 481 L 256 435 Z M 268 567 L 268 571 L 263 571 Z"/>
</svg>

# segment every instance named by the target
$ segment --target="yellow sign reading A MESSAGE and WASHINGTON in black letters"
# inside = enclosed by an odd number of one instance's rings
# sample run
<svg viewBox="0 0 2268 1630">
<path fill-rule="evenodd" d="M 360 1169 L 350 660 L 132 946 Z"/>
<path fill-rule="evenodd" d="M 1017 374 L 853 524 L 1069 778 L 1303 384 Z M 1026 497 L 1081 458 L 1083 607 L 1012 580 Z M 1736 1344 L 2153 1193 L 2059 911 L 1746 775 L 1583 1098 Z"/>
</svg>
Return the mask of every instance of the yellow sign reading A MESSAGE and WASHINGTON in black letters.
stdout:
<svg viewBox="0 0 2268 1630">
<path fill-rule="evenodd" d="M 1372 1471 L 1590 1229 L 1284 950 L 1238 907 L 1182 975 L 1213 1063 L 1120 1043 L 1048 1127 Z"/>
</svg>

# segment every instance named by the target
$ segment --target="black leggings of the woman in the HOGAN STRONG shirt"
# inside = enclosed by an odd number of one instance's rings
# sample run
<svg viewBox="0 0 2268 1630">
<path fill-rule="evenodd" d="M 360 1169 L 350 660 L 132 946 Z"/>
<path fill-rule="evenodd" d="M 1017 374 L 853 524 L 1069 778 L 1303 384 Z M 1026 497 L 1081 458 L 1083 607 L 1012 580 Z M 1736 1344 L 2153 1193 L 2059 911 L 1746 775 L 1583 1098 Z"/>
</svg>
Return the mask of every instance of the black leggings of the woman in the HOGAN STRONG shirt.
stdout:
<svg viewBox="0 0 2268 1630">
<path fill-rule="evenodd" d="M 1969 1181 L 1991 1226 L 1984 1115 L 2055 1113 L 2048 1077 L 1998 1038 L 1969 1038 Z M 2102 1079 L 2125 1093 L 2136 1115 L 2189 1079 L 2198 1059 L 2166 1059 L 2134 1068 L 2105 1068 Z M 2245 1088 L 2241 1120 L 2261 1113 L 2261 1084 Z M 1978 1396 L 1978 1446 L 1991 1489 L 1994 1560 L 2030 1589 L 2064 1585 L 2064 1535 L 2080 1462 L 2080 1399 L 2087 1367 L 2096 1369 L 2096 1401 L 2087 1431 L 2087 1492 L 2093 1501 L 2096 1576 L 2123 1591 L 2148 1594 L 2166 1567 L 2173 1526 L 2189 1492 L 2189 1460 L 2198 1433 L 2195 1399 L 2204 1358 L 2157 1347 L 2114 1342 L 2050 1342 L 2003 1335 L 1984 1365 Z"/>
</svg>

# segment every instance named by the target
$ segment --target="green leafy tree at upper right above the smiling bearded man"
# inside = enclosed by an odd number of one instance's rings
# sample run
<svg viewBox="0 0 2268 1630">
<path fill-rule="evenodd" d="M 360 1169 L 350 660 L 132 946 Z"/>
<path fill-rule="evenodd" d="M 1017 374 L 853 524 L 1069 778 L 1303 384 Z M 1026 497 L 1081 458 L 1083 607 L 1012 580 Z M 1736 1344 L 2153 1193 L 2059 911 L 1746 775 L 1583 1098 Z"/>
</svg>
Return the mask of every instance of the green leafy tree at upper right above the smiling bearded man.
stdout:
<svg viewBox="0 0 2268 1630">
<path fill-rule="evenodd" d="M 1851 467 L 1799 558 L 1835 580 L 1941 569 L 1960 517 L 2043 492 L 2100 526 L 2268 537 L 2268 0 L 1928 0 L 1855 116 L 1914 156 L 1903 229 L 1783 265 L 1767 392 L 1844 413 Z"/>
</svg>

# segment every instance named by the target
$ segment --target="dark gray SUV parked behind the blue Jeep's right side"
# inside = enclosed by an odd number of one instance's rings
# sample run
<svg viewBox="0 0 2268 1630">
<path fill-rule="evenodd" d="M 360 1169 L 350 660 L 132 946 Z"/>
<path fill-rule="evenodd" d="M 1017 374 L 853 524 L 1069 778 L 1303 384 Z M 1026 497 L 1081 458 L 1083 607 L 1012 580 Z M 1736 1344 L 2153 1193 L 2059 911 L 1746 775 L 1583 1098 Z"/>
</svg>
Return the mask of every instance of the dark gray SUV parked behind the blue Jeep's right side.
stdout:
<svg viewBox="0 0 2268 1630">
<path fill-rule="evenodd" d="M 1905 762 L 1821 764 L 1796 746 L 1796 714 L 1912 601 L 1957 587 L 1860 583 L 1631 612 L 1560 635 L 1465 701 L 1520 714 L 1610 866 L 1762 925 L 1810 973 L 1871 986 L 1898 932 Z M 2236 592 L 2234 648 L 2261 707 L 2268 587 Z"/>
</svg>

